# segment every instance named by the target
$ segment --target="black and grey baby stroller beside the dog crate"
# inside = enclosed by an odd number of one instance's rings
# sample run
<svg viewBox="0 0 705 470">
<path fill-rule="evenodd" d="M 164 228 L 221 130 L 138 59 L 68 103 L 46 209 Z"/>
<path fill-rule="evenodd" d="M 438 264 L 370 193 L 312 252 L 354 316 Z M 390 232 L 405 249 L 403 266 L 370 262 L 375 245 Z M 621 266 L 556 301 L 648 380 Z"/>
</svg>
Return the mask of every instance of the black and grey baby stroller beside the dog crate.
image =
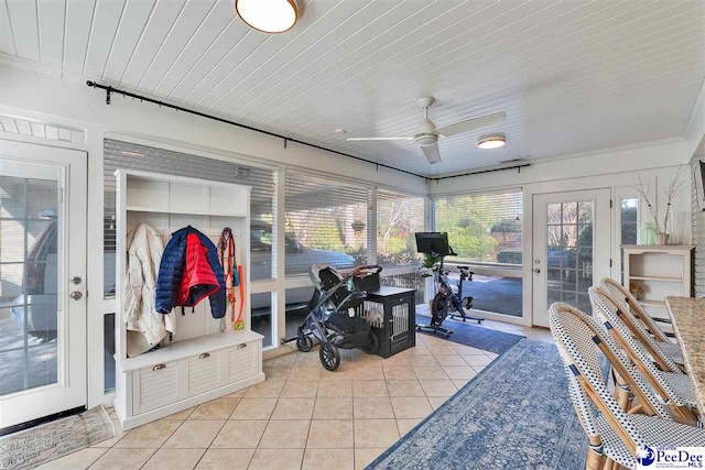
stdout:
<svg viewBox="0 0 705 470">
<path fill-rule="evenodd" d="M 299 327 L 296 348 L 308 352 L 313 348 L 313 337 L 321 342 L 318 356 L 321 364 L 329 371 L 340 365 L 341 349 L 359 348 L 368 354 L 379 350 L 379 338 L 370 324 L 348 311 L 357 308 L 367 297 L 367 292 L 356 288 L 356 280 L 378 274 L 381 266 L 358 266 L 345 276 L 329 264 L 311 266 L 311 280 L 316 291 L 308 304 L 310 313 Z"/>
</svg>

